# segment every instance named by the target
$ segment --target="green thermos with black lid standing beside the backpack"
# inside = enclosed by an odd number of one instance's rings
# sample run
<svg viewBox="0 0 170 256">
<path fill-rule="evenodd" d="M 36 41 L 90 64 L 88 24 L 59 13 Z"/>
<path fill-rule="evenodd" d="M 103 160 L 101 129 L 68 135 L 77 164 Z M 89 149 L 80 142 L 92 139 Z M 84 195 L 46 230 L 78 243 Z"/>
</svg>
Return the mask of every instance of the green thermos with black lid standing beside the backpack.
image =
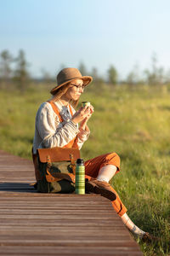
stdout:
<svg viewBox="0 0 170 256">
<path fill-rule="evenodd" d="M 75 192 L 78 195 L 85 194 L 85 166 L 84 161 L 81 158 L 77 159 Z"/>
</svg>

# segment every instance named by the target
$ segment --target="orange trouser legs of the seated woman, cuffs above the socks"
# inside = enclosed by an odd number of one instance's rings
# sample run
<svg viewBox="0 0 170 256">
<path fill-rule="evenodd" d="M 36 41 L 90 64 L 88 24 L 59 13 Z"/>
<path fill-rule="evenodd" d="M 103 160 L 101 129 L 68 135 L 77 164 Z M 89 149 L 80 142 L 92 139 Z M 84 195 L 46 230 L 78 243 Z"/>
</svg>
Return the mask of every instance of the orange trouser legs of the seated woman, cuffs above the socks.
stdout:
<svg viewBox="0 0 170 256">
<path fill-rule="evenodd" d="M 85 162 L 85 173 L 86 178 L 90 180 L 92 177 L 96 178 L 99 173 L 99 169 L 103 166 L 113 165 L 117 167 L 117 172 L 120 171 L 120 157 L 116 153 L 110 154 L 101 154 L 94 159 L 87 160 Z M 112 188 L 113 189 L 113 188 Z M 113 189 L 113 192 L 116 194 L 116 200 L 111 201 L 112 206 L 119 216 L 122 216 L 127 212 L 127 208 L 123 205 L 119 195 L 116 193 L 116 190 Z"/>
</svg>

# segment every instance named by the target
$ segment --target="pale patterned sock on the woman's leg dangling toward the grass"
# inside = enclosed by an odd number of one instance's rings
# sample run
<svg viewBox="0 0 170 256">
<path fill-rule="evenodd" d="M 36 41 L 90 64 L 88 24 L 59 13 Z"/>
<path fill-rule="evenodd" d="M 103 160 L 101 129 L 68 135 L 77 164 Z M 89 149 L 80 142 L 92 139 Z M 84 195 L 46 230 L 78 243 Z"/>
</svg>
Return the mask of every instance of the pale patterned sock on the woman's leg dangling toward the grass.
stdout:
<svg viewBox="0 0 170 256">
<path fill-rule="evenodd" d="M 143 230 L 140 230 L 138 226 L 133 224 L 133 221 L 128 217 L 127 213 L 124 213 L 121 218 L 127 229 L 130 230 L 134 236 L 138 236 L 140 238 L 144 236 L 145 232 Z"/>
</svg>

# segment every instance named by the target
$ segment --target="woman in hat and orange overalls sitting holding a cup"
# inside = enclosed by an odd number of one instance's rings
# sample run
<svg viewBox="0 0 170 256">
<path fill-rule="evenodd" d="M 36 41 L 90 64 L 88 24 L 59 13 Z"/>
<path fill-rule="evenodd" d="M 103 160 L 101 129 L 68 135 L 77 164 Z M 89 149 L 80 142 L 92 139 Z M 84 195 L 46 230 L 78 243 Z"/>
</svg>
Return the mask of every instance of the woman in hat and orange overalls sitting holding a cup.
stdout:
<svg viewBox="0 0 170 256">
<path fill-rule="evenodd" d="M 76 112 L 73 107 L 77 106 L 84 88 L 91 81 L 92 77 L 82 76 L 77 68 L 64 68 L 59 72 L 57 86 L 51 90 L 53 97 L 48 102 L 43 102 L 37 111 L 33 154 L 36 154 L 37 148 L 82 148 L 90 133 L 87 123 L 94 113 L 94 108 L 80 108 Z M 127 229 L 143 241 L 150 241 L 150 234 L 140 230 L 128 218 L 127 208 L 109 184 L 111 178 L 119 171 L 120 159 L 116 153 L 103 154 L 86 161 L 86 192 L 97 193 L 111 200 Z"/>
</svg>

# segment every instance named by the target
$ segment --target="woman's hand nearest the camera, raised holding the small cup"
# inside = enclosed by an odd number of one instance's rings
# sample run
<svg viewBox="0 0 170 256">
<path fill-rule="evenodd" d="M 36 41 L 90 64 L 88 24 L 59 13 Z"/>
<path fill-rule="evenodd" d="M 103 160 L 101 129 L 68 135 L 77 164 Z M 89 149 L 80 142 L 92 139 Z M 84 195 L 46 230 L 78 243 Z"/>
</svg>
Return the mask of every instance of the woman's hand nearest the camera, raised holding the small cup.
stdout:
<svg viewBox="0 0 170 256">
<path fill-rule="evenodd" d="M 74 124 L 82 122 L 83 119 L 90 118 L 92 115 L 92 110 L 90 107 L 80 108 L 73 116 L 72 121 Z"/>
</svg>

